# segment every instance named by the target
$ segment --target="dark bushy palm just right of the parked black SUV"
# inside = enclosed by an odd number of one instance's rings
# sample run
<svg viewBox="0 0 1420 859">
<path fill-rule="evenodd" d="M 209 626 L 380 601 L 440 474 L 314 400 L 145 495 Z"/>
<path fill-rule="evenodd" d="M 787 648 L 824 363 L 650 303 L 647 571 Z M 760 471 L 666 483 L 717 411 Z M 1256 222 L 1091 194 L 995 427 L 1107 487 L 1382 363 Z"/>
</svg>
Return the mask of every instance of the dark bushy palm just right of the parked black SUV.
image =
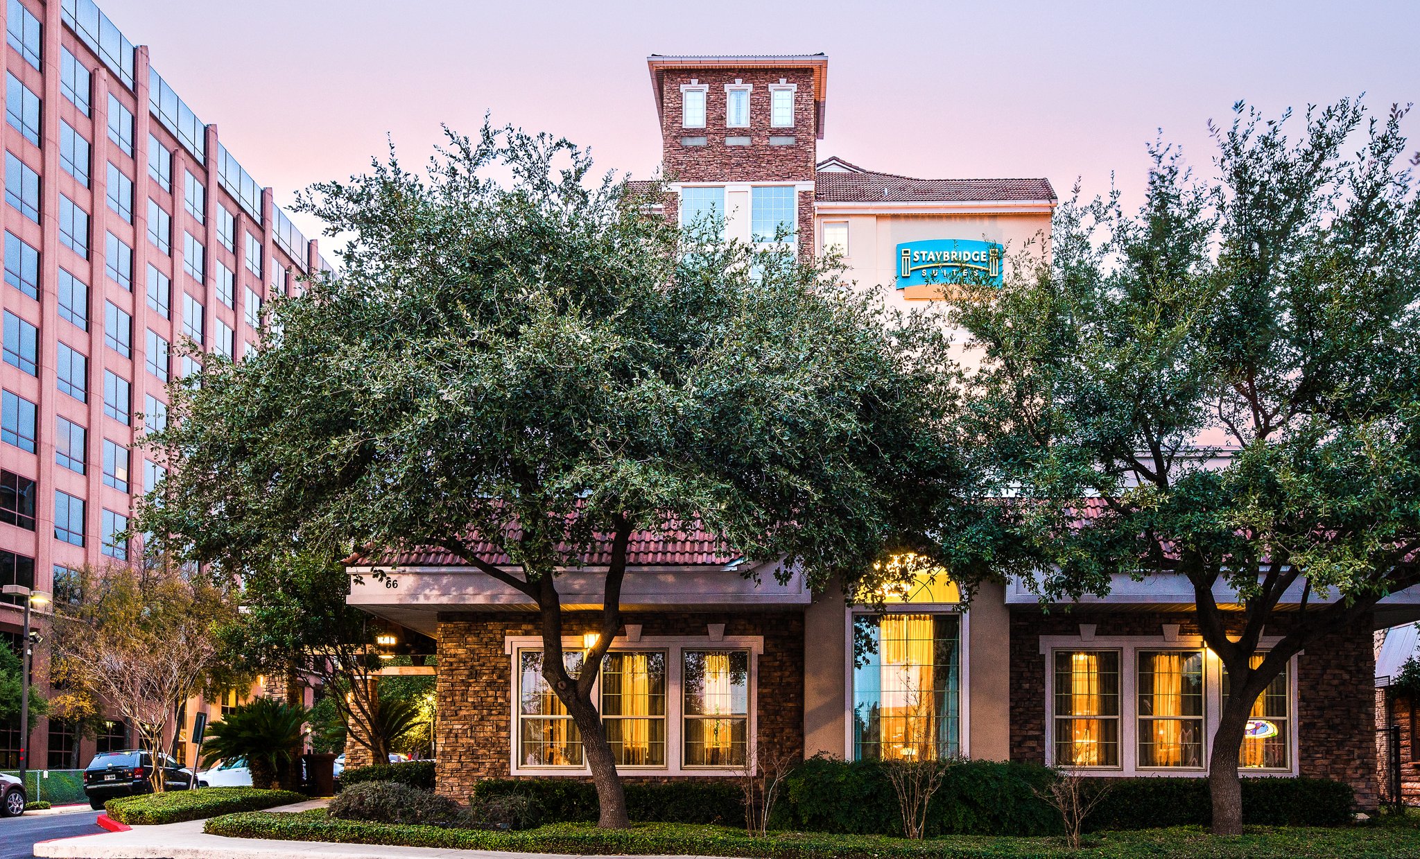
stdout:
<svg viewBox="0 0 1420 859">
<path fill-rule="evenodd" d="M 305 707 L 293 707 L 273 699 L 256 699 L 227 711 L 222 721 L 207 728 L 203 764 L 246 758 L 251 787 L 273 788 L 290 770 L 295 750 L 305 737 Z"/>
</svg>

